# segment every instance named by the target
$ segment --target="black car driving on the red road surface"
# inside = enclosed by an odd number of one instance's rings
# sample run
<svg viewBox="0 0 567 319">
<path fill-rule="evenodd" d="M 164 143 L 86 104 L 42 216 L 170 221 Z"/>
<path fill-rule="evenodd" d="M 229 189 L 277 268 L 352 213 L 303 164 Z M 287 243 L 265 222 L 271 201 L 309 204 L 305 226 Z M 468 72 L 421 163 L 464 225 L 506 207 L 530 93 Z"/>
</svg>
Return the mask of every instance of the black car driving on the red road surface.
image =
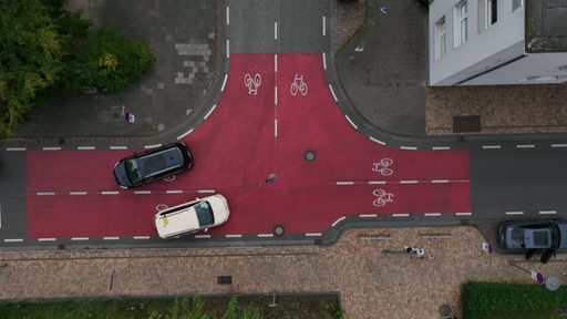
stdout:
<svg viewBox="0 0 567 319">
<path fill-rule="evenodd" d="M 193 166 L 193 155 L 183 142 L 167 144 L 121 160 L 114 165 L 114 178 L 122 188 L 143 186 Z"/>
</svg>

